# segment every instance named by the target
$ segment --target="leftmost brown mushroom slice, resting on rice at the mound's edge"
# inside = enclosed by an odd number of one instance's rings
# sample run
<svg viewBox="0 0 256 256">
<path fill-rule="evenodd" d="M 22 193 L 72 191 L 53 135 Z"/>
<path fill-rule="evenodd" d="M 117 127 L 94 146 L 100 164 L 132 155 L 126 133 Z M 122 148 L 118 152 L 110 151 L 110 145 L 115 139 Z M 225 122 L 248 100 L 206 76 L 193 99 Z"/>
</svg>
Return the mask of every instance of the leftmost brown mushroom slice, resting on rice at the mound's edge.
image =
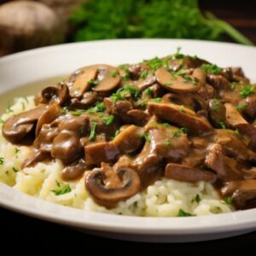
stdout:
<svg viewBox="0 0 256 256">
<path fill-rule="evenodd" d="M 37 124 L 45 108 L 34 108 L 11 116 L 3 123 L 3 137 L 10 143 L 20 143 Z"/>
</svg>

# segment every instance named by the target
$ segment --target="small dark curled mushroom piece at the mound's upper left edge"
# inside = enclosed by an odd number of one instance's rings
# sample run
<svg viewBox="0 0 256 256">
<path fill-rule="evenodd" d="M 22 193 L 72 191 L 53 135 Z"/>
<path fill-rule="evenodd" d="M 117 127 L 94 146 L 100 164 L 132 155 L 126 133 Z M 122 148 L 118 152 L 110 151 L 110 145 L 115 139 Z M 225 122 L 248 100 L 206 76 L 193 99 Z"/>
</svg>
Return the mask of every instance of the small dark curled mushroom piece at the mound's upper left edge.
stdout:
<svg viewBox="0 0 256 256">
<path fill-rule="evenodd" d="M 41 92 L 41 97 L 41 103 L 56 102 L 60 104 L 60 106 L 63 106 L 70 100 L 69 89 L 67 84 L 64 83 L 60 83 L 59 87 L 49 86 L 44 88 L 44 90 Z"/>
</svg>

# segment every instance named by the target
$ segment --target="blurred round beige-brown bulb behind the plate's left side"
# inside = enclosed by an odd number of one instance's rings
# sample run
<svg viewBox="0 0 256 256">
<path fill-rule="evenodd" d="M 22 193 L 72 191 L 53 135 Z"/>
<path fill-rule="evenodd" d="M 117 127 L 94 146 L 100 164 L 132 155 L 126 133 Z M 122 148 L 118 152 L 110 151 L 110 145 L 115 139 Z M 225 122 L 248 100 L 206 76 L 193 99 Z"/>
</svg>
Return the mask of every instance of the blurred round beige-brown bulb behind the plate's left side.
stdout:
<svg viewBox="0 0 256 256">
<path fill-rule="evenodd" d="M 63 25 L 43 3 L 15 1 L 0 6 L 2 54 L 58 44 L 63 38 Z"/>
</svg>

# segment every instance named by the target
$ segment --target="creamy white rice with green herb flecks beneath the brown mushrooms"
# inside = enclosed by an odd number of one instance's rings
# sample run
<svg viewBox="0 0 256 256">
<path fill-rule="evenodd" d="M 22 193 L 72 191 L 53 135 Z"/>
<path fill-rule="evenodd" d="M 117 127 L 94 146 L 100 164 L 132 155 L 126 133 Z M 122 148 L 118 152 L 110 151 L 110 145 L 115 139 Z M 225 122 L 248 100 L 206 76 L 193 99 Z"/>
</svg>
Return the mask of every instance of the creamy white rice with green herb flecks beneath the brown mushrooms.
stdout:
<svg viewBox="0 0 256 256">
<path fill-rule="evenodd" d="M 8 119 L 15 113 L 35 108 L 34 97 L 15 99 L 15 104 L 3 114 L 1 119 Z M 0 125 L 2 130 L 2 125 Z M 200 216 L 221 212 L 231 212 L 232 207 L 220 200 L 218 193 L 210 183 L 183 183 L 162 179 L 142 193 L 132 196 L 127 201 L 119 202 L 118 207 L 108 210 L 97 205 L 84 188 L 84 178 L 69 182 L 71 192 L 55 195 L 52 190 L 58 189 L 63 166 L 60 160 L 38 163 L 31 168 L 21 170 L 21 163 L 31 154 L 28 147 L 17 147 L 8 143 L 0 135 L 0 182 L 28 195 L 52 201 L 68 207 L 76 207 L 92 212 L 108 212 L 122 215 L 175 217 L 180 209 Z M 195 200 L 195 198 L 200 199 Z"/>
</svg>

